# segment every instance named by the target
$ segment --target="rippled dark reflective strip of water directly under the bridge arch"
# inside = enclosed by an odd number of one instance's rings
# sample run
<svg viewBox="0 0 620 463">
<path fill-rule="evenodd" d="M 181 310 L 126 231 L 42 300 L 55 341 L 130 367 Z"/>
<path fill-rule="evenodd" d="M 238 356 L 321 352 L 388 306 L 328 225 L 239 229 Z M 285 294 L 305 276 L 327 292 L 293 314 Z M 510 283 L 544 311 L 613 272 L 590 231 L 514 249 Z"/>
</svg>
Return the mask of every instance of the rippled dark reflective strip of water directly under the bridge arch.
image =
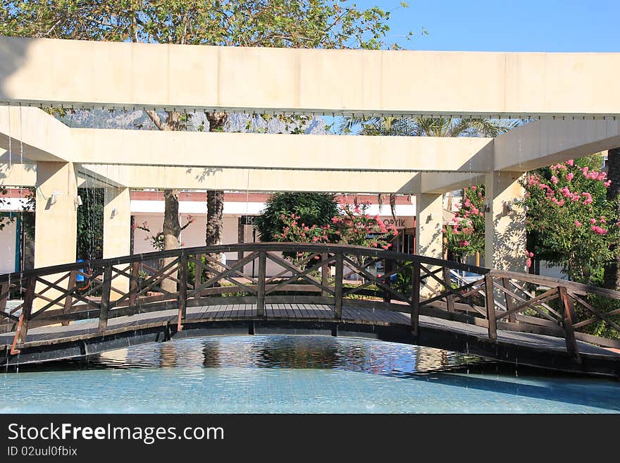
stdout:
<svg viewBox="0 0 620 463">
<path fill-rule="evenodd" d="M 240 336 L 163 342 L 54 364 L 54 369 L 204 366 L 424 373 L 483 362 L 477 357 L 391 342 L 321 336 Z M 23 369 L 45 369 L 25 366 Z M 22 370 L 24 371 L 24 370 Z"/>
</svg>

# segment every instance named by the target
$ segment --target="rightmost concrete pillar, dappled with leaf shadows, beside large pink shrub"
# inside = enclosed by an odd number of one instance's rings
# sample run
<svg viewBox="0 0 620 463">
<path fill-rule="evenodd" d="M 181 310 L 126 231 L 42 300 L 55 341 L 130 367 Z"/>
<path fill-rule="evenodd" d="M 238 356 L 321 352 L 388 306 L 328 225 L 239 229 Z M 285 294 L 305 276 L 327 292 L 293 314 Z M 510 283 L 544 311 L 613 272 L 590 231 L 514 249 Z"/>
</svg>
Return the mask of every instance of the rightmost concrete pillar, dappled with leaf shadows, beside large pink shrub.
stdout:
<svg viewBox="0 0 620 463">
<path fill-rule="evenodd" d="M 512 201 L 523 198 L 519 185 L 522 172 L 492 172 L 485 175 L 485 266 L 497 270 L 527 271 L 526 214 Z M 511 210 L 512 209 L 512 210 Z"/>
</svg>

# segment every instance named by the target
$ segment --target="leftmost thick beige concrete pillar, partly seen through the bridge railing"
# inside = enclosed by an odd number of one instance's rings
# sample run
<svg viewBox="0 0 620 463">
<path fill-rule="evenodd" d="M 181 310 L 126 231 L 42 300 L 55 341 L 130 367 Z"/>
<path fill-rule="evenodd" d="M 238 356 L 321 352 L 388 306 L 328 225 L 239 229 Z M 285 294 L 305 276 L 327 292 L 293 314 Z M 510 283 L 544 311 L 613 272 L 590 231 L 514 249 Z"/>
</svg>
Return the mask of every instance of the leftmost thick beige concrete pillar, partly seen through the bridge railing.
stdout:
<svg viewBox="0 0 620 463">
<path fill-rule="evenodd" d="M 77 183 L 73 163 L 37 163 L 37 199 L 35 209 L 35 268 L 75 262 L 77 243 Z M 58 276 L 46 276 L 54 283 Z M 58 285 L 67 288 L 68 279 Z M 39 293 L 43 285 L 37 283 Z M 48 290 L 45 297 L 56 299 L 60 293 Z M 61 304 L 63 301 L 61 301 Z M 35 299 L 38 309 L 47 302 Z M 50 309 L 60 309 L 56 305 Z"/>
</svg>

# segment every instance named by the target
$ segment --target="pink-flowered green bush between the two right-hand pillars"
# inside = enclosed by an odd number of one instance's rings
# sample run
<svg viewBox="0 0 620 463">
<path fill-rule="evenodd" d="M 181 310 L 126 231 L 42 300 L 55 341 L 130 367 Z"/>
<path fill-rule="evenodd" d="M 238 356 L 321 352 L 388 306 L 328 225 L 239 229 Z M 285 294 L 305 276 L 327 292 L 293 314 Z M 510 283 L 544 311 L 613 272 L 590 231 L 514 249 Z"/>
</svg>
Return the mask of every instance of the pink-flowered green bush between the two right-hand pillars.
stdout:
<svg viewBox="0 0 620 463">
<path fill-rule="evenodd" d="M 444 226 L 444 245 L 453 257 L 463 259 L 485 248 L 485 187 L 464 188 L 463 201 L 451 223 Z"/>
</svg>

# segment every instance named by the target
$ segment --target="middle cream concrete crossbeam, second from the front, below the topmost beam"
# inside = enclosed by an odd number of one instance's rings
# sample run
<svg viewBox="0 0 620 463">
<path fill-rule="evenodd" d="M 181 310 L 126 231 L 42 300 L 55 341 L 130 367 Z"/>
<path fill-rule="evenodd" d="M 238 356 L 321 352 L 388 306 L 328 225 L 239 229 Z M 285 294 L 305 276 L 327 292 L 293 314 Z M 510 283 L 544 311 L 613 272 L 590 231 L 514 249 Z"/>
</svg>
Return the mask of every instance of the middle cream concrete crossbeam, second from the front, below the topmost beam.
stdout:
<svg viewBox="0 0 620 463">
<path fill-rule="evenodd" d="M 70 129 L 70 142 L 71 160 L 79 163 L 486 172 L 493 162 L 492 139 L 482 137 Z"/>
</svg>

